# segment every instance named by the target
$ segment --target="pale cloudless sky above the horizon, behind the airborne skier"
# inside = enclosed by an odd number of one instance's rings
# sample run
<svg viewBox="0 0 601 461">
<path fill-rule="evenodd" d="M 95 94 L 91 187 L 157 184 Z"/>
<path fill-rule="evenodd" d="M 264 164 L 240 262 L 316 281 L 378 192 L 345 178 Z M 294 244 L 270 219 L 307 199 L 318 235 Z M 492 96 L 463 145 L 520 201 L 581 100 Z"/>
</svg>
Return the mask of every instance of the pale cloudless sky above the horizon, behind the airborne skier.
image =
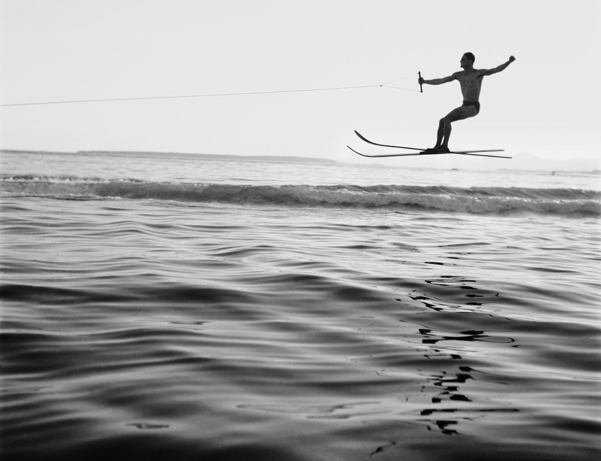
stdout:
<svg viewBox="0 0 601 461">
<path fill-rule="evenodd" d="M 451 148 L 598 157 L 599 0 L 1 0 L 0 103 L 380 85 L 516 61 L 484 78 Z M 397 82 L 419 90 L 417 76 Z M 353 133 L 430 147 L 457 82 L 0 107 L 0 148 L 355 161 Z M 425 160 L 424 160 L 425 161 Z M 397 162 L 398 163 L 398 162 Z M 395 163 L 396 164 L 396 163 Z"/>
</svg>

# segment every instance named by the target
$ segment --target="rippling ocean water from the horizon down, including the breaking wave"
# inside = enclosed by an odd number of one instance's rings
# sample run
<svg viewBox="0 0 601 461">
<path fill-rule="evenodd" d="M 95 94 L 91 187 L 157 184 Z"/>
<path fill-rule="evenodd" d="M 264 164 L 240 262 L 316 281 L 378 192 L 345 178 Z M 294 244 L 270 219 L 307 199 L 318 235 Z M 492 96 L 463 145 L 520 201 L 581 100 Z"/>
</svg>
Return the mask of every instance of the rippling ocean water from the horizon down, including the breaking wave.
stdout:
<svg viewBox="0 0 601 461">
<path fill-rule="evenodd" d="M 2 459 L 599 459 L 599 175 L 399 165 L 2 153 Z"/>
</svg>

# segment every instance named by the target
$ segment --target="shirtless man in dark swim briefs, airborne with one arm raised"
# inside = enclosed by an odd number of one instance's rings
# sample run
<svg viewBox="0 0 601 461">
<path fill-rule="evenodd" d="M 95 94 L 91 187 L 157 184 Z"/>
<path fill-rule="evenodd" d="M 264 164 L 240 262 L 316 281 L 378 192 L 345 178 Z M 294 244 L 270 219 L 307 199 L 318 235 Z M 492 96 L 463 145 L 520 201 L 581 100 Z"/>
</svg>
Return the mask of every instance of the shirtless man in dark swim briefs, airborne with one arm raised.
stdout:
<svg viewBox="0 0 601 461">
<path fill-rule="evenodd" d="M 453 111 L 449 112 L 444 118 L 441 118 L 441 121 L 438 124 L 436 145 L 433 148 L 427 149 L 427 151 L 441 153 L 449 151 L 448 144 L 451 136 L 451 123 L 457 120 L 475 117 L 478 115 L 478 112 L 480 112 L 480 102 L 478 102 L 478 97 L 480 97 L 480 87 L 482 86 L 482 79 L 484 76 L 501 72 L 501 70 L 504 70 L 510 63 L 513 63 L 513 61 L 516 60 L 516 58 L 510 56 L 507 63 L 501 64 L 501 66 L 495 67 L 495 69 L 474 69 L 475 59 L 476 58 L 472 53 L 465 53 L 460 61 L 460 66 L 463 70 L 441 79 L 419 79 L 420 85 L 440 85 L 457 80 L 459 81 L 461 93 L 463 94 L 463 105 L 457 109 L 453 109 Z"/>
</svg>

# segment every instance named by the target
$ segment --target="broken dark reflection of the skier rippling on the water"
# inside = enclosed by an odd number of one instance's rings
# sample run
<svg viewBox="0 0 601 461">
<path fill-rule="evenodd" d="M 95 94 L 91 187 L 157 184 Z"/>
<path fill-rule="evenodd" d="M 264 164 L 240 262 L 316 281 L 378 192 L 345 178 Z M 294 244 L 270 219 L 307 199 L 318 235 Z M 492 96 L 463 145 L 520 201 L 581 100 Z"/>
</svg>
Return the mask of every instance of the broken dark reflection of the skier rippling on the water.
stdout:
<svg viewBox="0 0 601 461">
<path fill-rule="evenodd" d="M 476 280 L 458 276 L 439 276 L 425 282 L 432 287 L 435 296 L 432 293 L 424 292 L 423 289 L 421 293 L 415 290 L 406 295 L 411 300 L 409 305 L 415 307 L 415 302 L 417 302 L 430 312 L 430 314 L 426 312 L 422 314 L 416 329 L 418 337 L 421 338 L 421 344 L 423 344 L 423 349 L 420 349 L 419 353 L 437 365 L 444 364 L 444 359 L 450 359 L 451 361 L 448 364 L 452 366 L 439 368 L 438 370 L 419 370 L 426 382 L 421 386 L 421 391 L 429 396 L 433 406 L 420 411 L 419 418 L 416 421 L 421 424 L 425 423 L 426 429 L 429 431 L 457 436 L 461 435 L 460 421 L 473 422 L 486 414 L 490 415 L 492 413 L 519 412 L 519 409 L 507 408 L 505 405 L 502 405 L 501 408 L 478 405 L 478 402 L 481 401 L 478 381 L 495 383 L 496 385 L 507 385 L 507 383 L 501 382 L 500 379 L 495 380 L 493 374 L 472 368 L 474 359 L 479 361 L 481 354 L 484 353 L 484 350 L 477 346 L 478 343 L 493 343 L 490 347 L 495 347 L 494 344 L 515 343 L 514 338 L 493 334 L 484 329 L 458 329 L 454 331 L 432 328 L 427 325 L 427 323 L 430 323 L 427 322 L 427 319 L 432 319 L 432 322 L 436 324 L 444 322 L 445 326 L 453 325 L 448 320 L 450 317 L 441 317 L 441 314 L 476 313 L 473 310 L 474 306 L 482 306 L 486 302 L 498 302 L 499 293 L 478 289 L 474 286 L 477 284 Z M 492 301 L 493 299 L 495 301 Z M 401 299 L 397 301 L 403 302 Z M 498 320 L 498 322 L 508 320 L 487 313 L 487 318 L 490 317 Z M 471 318 L 471 316 L 468 316 L 468 319 Z M 473 317 L 473 319 L 468 325 L 482 325 L 478 323 L 477 317 Z M 415 317 L 405 318 L 401 322 L 415 323 Z M 457 322 L 465 325 L 465 317 L 461 317 L 461 320 L 458 317 Z M 490 320 L 487 322 L 490 322 Z M 498 325 L 497 322 L 493 324 Z M 466 347 L 468 343 L 469 347 Z M 516 346 L 512 345 L 510 347 Z M 492 379 L 485 378 L 483 380 L 483 375 L 488 375 Z M 460 406 L 448 408 L 452 403 L 460 404 Z"/>
</svg>

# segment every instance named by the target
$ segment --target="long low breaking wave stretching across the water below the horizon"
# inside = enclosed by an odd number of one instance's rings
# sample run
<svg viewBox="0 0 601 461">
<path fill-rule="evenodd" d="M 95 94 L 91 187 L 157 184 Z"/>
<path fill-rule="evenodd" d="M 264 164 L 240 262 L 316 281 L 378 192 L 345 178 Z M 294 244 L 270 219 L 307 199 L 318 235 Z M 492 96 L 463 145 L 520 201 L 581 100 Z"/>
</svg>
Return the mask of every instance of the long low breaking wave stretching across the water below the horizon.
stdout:
<svg viewBox="0 0 601 461">
<path fill-rule="evenodd" d="M 601 215 L 601 192 L 403 185 L 257 186 L 136 179 L 1 176 L 4 194 L 70 200 L 166 200 L 284 207 L 382 208 L 472 214 Z"/>
</svg>

